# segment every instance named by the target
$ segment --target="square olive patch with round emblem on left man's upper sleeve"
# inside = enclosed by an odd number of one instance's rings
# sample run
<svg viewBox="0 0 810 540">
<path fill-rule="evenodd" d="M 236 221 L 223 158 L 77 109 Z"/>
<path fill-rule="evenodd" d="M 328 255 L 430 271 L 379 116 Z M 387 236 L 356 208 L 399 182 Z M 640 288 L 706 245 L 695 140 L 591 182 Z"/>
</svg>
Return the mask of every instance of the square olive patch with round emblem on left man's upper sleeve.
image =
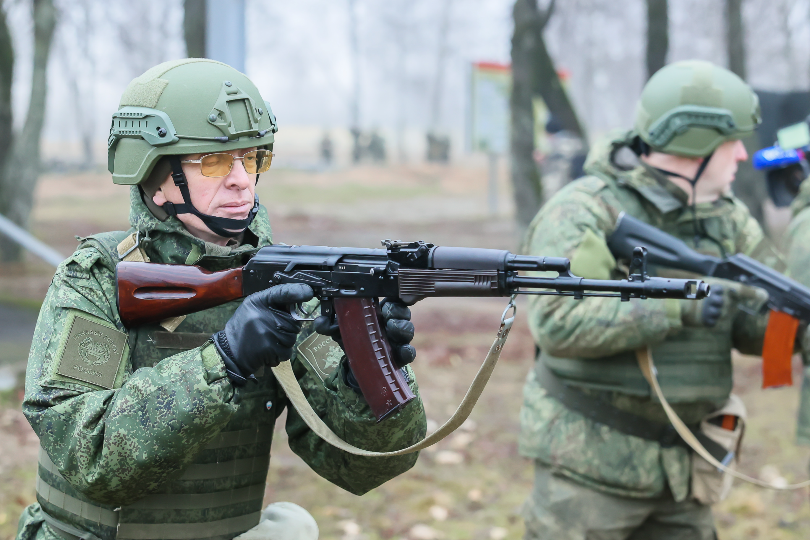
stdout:
<svg viewBox="0 0 810 540">
<path fill-rule="evenodd" d="M 76 315 L 62 349 L 57 373 L 113 388 L 124 353 L 126 334 Z"/>
</svg>

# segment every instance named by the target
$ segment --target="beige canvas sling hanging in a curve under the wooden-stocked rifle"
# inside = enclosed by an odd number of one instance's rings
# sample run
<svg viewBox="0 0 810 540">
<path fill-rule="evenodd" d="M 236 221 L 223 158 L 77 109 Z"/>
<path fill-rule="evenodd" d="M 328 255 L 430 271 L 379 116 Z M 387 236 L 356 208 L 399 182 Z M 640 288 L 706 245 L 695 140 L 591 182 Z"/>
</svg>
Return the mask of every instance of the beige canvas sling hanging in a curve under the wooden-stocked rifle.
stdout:
<svg viewBox="0 0 810 540">
<path fill-rule="evenodd" d="M 507 317 L 506 315 L 509 313 L 509 311 L 512 311 L 512 314 Z M 506 338 L 509 336 L 509 328 L 512 328 L 512 324 L 514 323 L 515 313 L 516 309 L 514 305 L 514 297 L 512 297 L 509 300 L 509 305 L 506 306 L 503 315 L 501 315 L 501 328 L 498 329 L 495 341 L 492 342 L 492 347 L 489 348 L 489 352 L 486 358 L 484 358 L 484 363 L 481 364 L 478 373 L 475 374 L 475 379 L 472 380 L 472 384 L 467 390 L 467 394 L 464 395 L 461 405 L 458 405 L 458 409 L 456 409 L 453 416 L 451 416 L 447 422 L 442 424 L 439 429 L 433 431 L 433 433 L 420 440 L 420 442 L 407 448 L 403 448 L 402 450 L 395 450 L 394 452 L 371 452 L 369 450 L 357 448 L 352 444 L 348 444 L 338 435 L 335 435 L 335 432 L 330 430 L 329 426 L 326 426 L 318 414 L 315 413 L 315 411 L 312 409 L 312 405 L 309 405 L 309 401 L 306 400 L 304 392 L 301 391 L 301 386 L 299 386 L 298 380 L 296 379 L 295 374 L 292 372 L 290 362 L 281 362 L 278 366 L 272 368 L 273 375 L 275 375 L 275 378 L 278 379 L 279 384 L 281 384 L 281 388 L 283 388 L 284 392 L 287 393 L 290 403 L 292 403 L 292 406 L 296 408 L 296 411 L 298 411 L 298 414 L 300 414 L 301 418 L 304 419 L 304 422 L 306 422 L 306 425 L 309 426 L 309 429 L 311 429 L 316 435 L 325 440 L 327 443 L 349 452 L 350 454 L 355 454 L 356 456 L 402 456 L 403 454 L 416 452 L 438 443 L 441 439 L 444 439 L 447 435 L 453 433 L 458 426 L 461 426 L 464 421 L 467 420 L 467 417 L 470 416 L 473 407 L 475 407 L 475 403 L 481 396 L 481 392 L 484 391 L 484 387 L 487 385 L 489 376 L 492 375 L 492 370 L 495 369 L 498 358 L 501 357 L 501 350 L 506 343 Z"/>
</svg>

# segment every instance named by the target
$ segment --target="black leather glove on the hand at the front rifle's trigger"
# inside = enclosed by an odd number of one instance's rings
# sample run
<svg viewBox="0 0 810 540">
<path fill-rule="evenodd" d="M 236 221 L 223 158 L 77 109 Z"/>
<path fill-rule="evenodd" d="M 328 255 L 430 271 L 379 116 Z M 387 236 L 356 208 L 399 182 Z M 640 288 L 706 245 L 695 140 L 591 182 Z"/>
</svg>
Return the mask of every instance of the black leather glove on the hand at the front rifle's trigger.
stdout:
<svg viewBox="0 0 810 540">
<path fill-rule="evenodd" d="M 211 336 L 233 384 L 242 386 L 262 366 L 290 359 L 301 321 L 292 318 L 289 306 L 312 298 L 312 287 L 300 283 L 275 285 L 245 298 L 225 329 Z"/>
</svg>

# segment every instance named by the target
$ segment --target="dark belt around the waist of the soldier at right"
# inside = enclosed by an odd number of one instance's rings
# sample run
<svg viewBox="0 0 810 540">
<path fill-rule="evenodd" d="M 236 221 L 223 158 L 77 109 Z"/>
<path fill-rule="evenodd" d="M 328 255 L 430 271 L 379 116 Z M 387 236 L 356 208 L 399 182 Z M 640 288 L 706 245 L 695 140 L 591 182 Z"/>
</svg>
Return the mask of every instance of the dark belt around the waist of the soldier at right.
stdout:
<svg viewBox="0 0 810 540">
<path fill-rule="evenodd" d="M 654 422 L 614 407 L 607 401 L 589 396 L 585 392 L 562 382 L 543 362 L 536 362 L 535 374 L 539 384 L 548 392 L 549 396 L 560 401 L 567 409 L 582 414 L 592 422 L 604 424 L 625 435 L 655 441 L 662 448 L 670 448 L 675 445 L 689 448 L 689 444 L 678 435 L 676 427 L 671 423 Z M 699 425 L 689 426 L 689 431 L 717 461 L 723 461 L 728 453 L 727 450 L 720 444 L 715 443 L 714 440 L 703 435 L 699 428 Z"/>
</svg>

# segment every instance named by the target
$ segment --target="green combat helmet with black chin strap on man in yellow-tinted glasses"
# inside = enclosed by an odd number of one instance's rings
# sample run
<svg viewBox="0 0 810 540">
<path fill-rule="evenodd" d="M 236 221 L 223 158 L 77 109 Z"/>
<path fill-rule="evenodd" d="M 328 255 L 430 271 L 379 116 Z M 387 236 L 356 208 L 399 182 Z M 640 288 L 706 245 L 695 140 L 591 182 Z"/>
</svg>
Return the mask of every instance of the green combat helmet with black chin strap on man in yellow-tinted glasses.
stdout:
<svg viewBox="0 0 810 540">
<path fill-rule="evenodd" d="M 207 58 L 164 62 L 133 79 L 118 106 L 107 141 L 113 182 L 138 185 L 159 219 L 192 213 L 225 237 L 237 236 L 250 225 L 258 212 L 258 196 L 244 220 L 207 216 L 191 204 L 180 164 L 186 154 L 272 150 L 278 131 L 275 116 L 250 79 Z M 151 196 L 170 171 L 185 204 L 159 207 Z"/>
</svg>

